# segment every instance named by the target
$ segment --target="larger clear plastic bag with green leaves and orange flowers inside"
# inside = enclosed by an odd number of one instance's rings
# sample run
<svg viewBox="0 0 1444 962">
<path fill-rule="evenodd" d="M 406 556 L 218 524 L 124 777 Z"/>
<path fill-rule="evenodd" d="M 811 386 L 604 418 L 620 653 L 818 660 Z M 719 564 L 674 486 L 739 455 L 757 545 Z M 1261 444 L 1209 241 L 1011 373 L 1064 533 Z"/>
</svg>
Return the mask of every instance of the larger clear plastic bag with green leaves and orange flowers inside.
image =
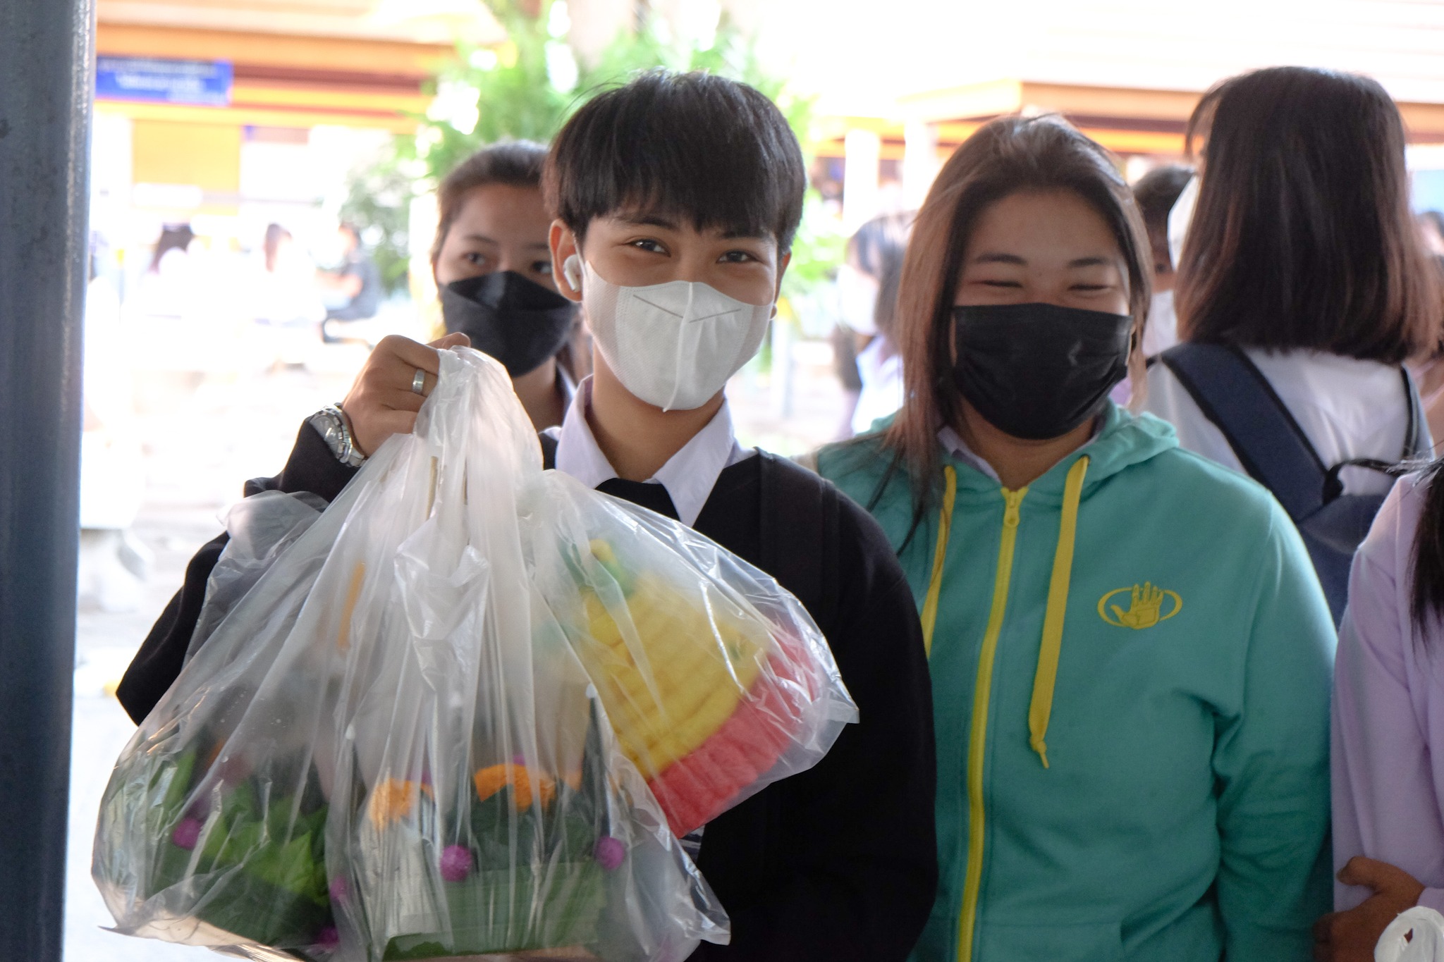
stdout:
<svg viewBox="0 0 1444 962">
<path fill-rule="evenodd" d="M 121 753 L 92 867 L 120 932 L 347 962 L 726 940 L 553 614 L 583 588 L 536 587 L 593 564 L 539 531 L 609 503 L 554 492 L 501 366 L 443 352 L 414 434 L 202 616 Z"/>
</svg>

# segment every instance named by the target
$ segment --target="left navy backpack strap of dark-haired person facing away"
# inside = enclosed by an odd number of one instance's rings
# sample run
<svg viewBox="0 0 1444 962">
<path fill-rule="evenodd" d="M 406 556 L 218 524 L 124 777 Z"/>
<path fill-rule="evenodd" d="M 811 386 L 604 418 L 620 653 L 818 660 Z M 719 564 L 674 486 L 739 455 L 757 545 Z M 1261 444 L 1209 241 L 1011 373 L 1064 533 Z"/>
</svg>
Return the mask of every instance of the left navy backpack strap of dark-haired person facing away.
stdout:
<svg viewBox="0 0 1444 962">
<path fill-rule="evenodd" d="M 1199 410 L 1229 441 L 1243 470 L 1298 522 L 1327 498 L 1328 469 L 1264 372 L 1232 346 L 1183 343 L 1162 352 Z"/>
</svg>

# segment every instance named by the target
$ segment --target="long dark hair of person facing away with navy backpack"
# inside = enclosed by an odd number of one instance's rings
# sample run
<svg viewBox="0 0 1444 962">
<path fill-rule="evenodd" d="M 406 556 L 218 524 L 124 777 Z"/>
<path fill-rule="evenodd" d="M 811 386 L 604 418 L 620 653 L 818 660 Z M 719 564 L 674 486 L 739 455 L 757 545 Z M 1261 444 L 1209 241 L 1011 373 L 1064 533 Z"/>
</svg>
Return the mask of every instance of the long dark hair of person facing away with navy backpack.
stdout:
<svg viewBox="0 0 1444 962">
<path fill-rule="evenodd" d="M 1175 287 L 1184 340 L 1388 363 L 1437 343 L 1404 121 L 1378 81 L 1243 74 L 1203 95 L 1186 137 L 1204 146 Z"/>
</svg>

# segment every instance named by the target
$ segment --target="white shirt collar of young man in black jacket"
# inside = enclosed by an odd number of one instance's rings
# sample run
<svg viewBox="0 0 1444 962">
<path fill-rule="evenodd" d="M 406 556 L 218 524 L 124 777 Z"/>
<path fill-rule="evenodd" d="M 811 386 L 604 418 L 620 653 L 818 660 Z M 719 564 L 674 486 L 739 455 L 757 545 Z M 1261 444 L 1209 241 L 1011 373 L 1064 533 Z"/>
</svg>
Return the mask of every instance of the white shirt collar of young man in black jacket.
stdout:
<svg viewBox="0 0 1444 962">
<path fill-rule="evenodd" d="M 602 454 L 592 434 L 592 425 L 586 423 L 586 411 L 592 404 L 592 379 L 586 378 L 576 388 L 572 407 L 562 418 L 562 427 L 550 428 L 556 437 L 556 469 L 570 475 L 588 487 L 596 487 L 602 482 L 617 477 L 617 469 Z M 722 469 L 757 454 L 754 447 L 742 447 L 732 433 L 732 411 L 726 398 L 722 407 L 712 415 L 708 425 L 692 436 L 692 440 L 682 446 L 667 463 L 657 469 L 657 473 L 647 479 L 647 483 L 661 485 L 671 498 L 671 506 L 677 509 L 677 521 L 689 528 L 697 522 L 702 506 L 712 496 L 712 487 L 718 483 Z"/>
</svg>

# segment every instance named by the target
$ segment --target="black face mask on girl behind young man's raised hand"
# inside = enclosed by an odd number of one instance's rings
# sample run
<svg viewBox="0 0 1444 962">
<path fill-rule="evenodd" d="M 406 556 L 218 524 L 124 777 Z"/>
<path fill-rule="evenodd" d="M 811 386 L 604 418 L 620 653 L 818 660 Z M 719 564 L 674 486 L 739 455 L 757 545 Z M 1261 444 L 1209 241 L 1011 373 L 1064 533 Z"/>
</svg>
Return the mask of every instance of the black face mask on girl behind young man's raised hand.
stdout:
<svg viewBox="0 0 1444 962">
<path fill-rule="evenodd" d="M 576 304 L 516 271 L 468 277 L 442 287 L 446 333 L 464 333 L 471 346 L 521 376 L 562 349 Z"/>
</svg>

